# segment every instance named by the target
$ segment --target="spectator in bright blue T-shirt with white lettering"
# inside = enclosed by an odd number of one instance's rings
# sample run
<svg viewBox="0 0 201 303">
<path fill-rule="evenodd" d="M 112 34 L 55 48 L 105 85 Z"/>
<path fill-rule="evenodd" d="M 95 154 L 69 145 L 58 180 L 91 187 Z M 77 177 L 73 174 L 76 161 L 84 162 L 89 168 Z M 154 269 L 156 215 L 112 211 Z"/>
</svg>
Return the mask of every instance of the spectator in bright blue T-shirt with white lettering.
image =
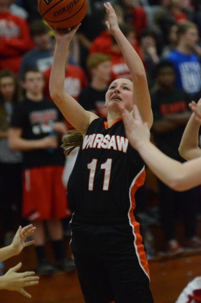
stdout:
<svg viewBox="0 0 201 303">
<path fill-rule="evenodd" d="M 192 97 L 201 88 L 200 58 L 194 54 L 199 35 L 197 26 L 187 21 L 178 26 L 178 44 L 167 57 L 176 71 L 176 86 Z"/>
</svg>

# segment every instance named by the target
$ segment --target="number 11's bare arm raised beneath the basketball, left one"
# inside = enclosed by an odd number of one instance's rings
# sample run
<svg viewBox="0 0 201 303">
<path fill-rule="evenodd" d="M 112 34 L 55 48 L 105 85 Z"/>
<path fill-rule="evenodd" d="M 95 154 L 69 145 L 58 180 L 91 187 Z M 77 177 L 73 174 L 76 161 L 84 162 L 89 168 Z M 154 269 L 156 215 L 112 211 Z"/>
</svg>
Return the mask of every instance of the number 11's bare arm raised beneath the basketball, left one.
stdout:
<svg viewBox="0 0 201 303">
<path fill-rule="evenodd" d="M 65 63 L 67 60 L 68 47 L 79 25 L 70 31 L 67 30 L 65 34 L 61 34 L 51 27 L 55 34 L 56 46 L 49 89 L 51 98 L 66 120 L 79 132 L 85 134 L 89 124 L 98 117 L 93 113 L 85 111 L 76 100 L 64 90 Z"/>
</svg>

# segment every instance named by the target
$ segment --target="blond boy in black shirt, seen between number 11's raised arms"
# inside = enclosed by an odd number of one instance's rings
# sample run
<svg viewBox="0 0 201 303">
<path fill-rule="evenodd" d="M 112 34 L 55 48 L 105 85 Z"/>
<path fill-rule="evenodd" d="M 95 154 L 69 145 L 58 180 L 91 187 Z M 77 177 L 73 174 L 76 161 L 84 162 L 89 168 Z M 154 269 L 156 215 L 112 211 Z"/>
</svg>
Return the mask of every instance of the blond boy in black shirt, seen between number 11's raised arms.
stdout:
<svg viewBox="0 0 201 303">
<path fill-rule="evenodd" d="M 111 78 L 110 57 L 105 54 L 93 54 L 87 59 L 90 85 L 79 94 L 79 104 L 99 117 L 107 117 L 105 93 Z"/>
</svg>

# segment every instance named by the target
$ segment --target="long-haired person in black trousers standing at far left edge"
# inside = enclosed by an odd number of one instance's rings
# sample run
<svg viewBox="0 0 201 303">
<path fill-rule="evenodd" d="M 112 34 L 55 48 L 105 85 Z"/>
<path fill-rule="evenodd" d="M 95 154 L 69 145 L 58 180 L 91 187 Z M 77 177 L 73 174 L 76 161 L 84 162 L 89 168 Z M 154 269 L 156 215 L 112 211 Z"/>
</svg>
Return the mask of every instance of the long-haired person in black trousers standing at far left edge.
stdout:
<svg viewBox="0 0 201 303">
<path fill-rule="evenodd" d="M 16 226 L 22 223 L 22 154 L 8 144 L 11 115 L 20 99 L 16 76 L 10 70 L 0 71 L 0 200 L 5 245 L 12 242 Z"/>
</svg>

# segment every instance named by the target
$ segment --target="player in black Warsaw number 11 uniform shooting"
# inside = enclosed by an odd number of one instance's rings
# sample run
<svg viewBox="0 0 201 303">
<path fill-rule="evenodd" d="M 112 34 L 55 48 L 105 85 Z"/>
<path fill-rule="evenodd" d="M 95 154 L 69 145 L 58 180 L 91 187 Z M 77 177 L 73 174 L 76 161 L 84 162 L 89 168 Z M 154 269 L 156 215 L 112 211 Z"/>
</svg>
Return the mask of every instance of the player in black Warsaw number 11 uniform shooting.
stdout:
<svg viewBox="0 0 201 303">
<path fill-rule="evenodd" d="M 65 118 L 83 136 L 70 175 L 67 195 L 74 214 L 70 247 L 87 303 L 152 303 L 149 269 L 141 226 L 135 216 L 135 193 L 144 183 L 144 163 L 129 145 L 119 104 L 137 104 L 152 125 L 146 73 L 133 46 L 120 31 L 110 3 L 104 4 L 106 25 L 132 74 L 114 80 L 106 92 L 107 119 L 84 110 L 64 91 L 65 60 L 79 25 L 56 38 L 50 94 Z M 70 140 L 70 139 L 69 139 Z"/>
</svg>

